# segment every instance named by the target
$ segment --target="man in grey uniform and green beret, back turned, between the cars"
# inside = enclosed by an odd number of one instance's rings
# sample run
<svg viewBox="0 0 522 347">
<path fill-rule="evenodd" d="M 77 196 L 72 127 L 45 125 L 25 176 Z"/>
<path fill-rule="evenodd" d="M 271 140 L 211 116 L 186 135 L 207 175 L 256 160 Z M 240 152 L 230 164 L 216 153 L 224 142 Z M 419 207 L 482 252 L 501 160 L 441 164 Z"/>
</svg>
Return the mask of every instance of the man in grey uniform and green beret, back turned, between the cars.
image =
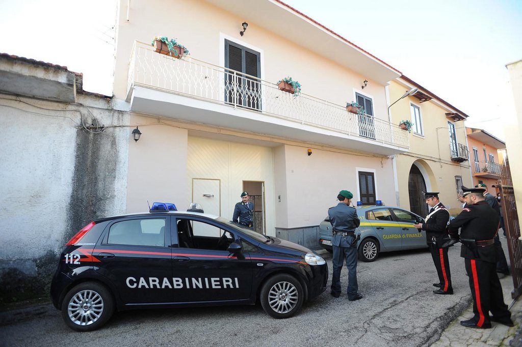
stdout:
<svg viewBox="0 0 522 347">
<path fill-rule="evenodd" d="M 332 255 L 333 275 L 331 278 L 331 295 L 339 298 L 341 294 L 341 270 L 342 263 L 346 261 L 348 268 L 348 300 L 362 299 L 357 291 L 357 241 L 355 228 L 361 221 L 357 217 L 357 211 L 350 204 L 353 194 L 347 190 L 341 190 L 337 195 L 339 203 L 328 209 L 328 216 L 332 226 L 333 238 L 331 240 L 334 253 Z"/>
</svg>

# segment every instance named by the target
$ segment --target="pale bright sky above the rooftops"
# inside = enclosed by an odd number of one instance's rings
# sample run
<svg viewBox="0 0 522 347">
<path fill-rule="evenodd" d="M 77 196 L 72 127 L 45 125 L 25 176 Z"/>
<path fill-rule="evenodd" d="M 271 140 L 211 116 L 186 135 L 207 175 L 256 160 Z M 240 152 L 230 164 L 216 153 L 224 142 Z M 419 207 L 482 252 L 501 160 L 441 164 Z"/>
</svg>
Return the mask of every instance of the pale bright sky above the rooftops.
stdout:
<svg viewBox="0 0 522 347">
<path fill-rule="evenodd" d="M 504 140 L 495 124 L 514 113 L 505 65 L 522 59 L 521 0 L 286 3 Z M 1 1 L 0 52 L 67 66 L 85 90 L 112 95 L 115 12 L 114 0 Z"/>
</svg>

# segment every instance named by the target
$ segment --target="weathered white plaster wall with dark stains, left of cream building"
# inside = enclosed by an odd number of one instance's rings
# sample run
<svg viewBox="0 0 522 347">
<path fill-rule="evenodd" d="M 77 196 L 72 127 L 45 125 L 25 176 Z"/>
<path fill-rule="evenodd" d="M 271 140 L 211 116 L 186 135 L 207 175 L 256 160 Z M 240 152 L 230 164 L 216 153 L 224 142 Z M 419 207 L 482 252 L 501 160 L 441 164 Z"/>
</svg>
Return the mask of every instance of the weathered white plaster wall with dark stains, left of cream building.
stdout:
<svg viewBox="0 0 522 347">
<path fill-rule="evenodd" d="M 125 212 L 130 131 L 96 126 L 127 124 L 99 97 L 0 94 L 0 303 L 48 295 L 62 245 L 91 220 Z"/>
</svg>

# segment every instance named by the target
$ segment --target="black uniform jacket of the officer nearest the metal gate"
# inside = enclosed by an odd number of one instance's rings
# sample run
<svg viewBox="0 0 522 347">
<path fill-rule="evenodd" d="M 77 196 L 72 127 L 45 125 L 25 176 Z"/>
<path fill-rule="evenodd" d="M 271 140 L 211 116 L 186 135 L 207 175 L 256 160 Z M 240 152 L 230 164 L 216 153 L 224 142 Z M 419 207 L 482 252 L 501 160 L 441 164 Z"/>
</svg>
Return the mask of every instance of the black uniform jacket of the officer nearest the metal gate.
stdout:
<svg viewBox="0 0 522 347">
<path fill-rule="evenodd" d="M 491 240 L 499 229 L 499 214 L 486 201 L 468 205 L 462 212 L 449 223 L 449 232 L 458 234 L 460 238 L 468 240 Z M 478 246 L 477 253 L 473 253 L 464 244 L 460 247 L 460 256 L 466 259 L 480 259 L 485 262 L 496 262 L 496 251 L 494 245 Z"/>
</svg>

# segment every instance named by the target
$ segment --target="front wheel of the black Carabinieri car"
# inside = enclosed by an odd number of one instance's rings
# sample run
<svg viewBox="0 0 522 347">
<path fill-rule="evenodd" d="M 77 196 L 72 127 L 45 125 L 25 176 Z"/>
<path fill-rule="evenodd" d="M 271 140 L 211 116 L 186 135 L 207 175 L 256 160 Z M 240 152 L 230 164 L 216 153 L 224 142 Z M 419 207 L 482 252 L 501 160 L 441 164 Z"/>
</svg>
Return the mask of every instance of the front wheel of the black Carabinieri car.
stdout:
<svg viewBox="0 0 522 347">
<path fill-rule="evenodd" d="M 301 283 L 293 276 L 281 274 L 269 278 L 260 293 L 263 309 L 275 318 L 288 318 L 299 311 L 304 293 Z"/>
</svg>

